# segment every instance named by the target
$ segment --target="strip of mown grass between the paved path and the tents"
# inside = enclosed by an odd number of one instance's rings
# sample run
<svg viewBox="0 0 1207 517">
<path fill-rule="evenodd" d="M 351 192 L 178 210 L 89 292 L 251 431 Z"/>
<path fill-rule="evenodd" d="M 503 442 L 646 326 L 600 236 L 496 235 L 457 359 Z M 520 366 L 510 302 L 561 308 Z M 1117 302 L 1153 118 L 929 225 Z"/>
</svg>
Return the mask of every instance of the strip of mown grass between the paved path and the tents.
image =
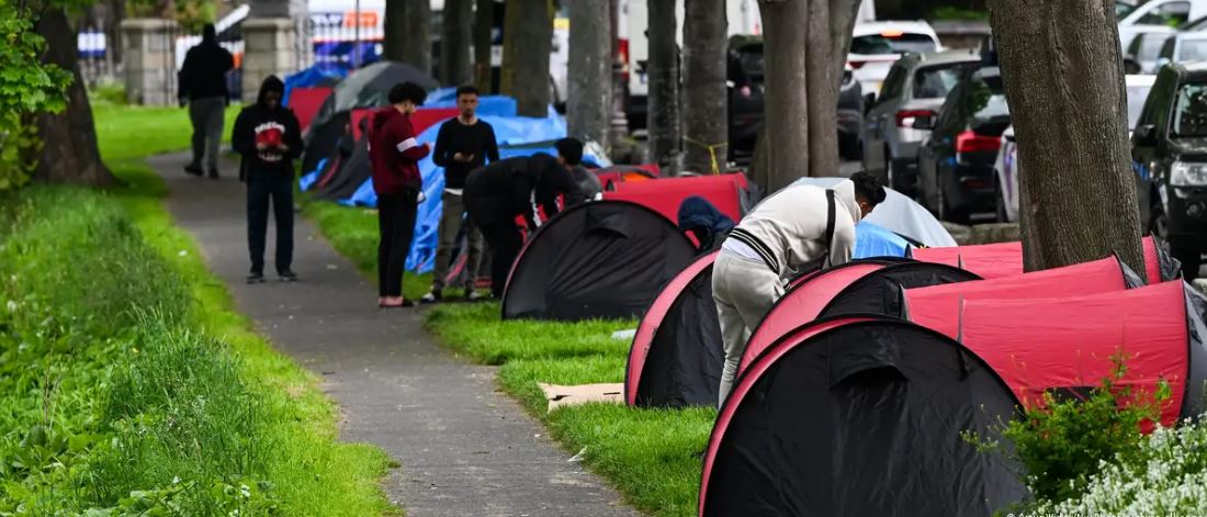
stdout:
<svg viewBox="0 0 1207 517">
<path fill-rule="evenodd" d="M 311 202 L 305 213 L 362 273 L 375 278 L 377 219 L 372 211 Z M 407 296 L 427 289 L 426 277 L 408 281 Z M 502 321 L 497 302 L 447 303 L 428 309 L 425 318 L 427 330 L 447 347 L 474 361 L 501 365 L 500 387 L 540 418 L 566 451 L 582 452 L 584 464 L 635 507 L 657 516 L 694 515 L 716 409 L 595 403 L 549 413 L 537 387 L 538 382 L 623 382 L 630 342 L 613 339 L 612 332 L 636 325 L 632 320 Z"/>
</svg>

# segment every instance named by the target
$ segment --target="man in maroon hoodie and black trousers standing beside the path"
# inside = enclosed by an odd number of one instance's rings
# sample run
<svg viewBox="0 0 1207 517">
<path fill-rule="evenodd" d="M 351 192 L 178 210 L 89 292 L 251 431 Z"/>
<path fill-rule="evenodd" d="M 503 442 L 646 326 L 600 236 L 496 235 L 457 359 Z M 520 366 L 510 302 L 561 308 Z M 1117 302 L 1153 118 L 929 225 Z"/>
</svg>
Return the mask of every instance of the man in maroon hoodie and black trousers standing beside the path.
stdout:
<svg viewBox="0 0 1207 517">
<path fill-rule="evenodd" d="M 372 115 L 369 163 L 373 191 L 378 197 L 378 307 L 413 307 L 402 296 L 402 274 L 415 233 L 415 214 L 422 192 L 419 161 L 427 157 L 427 144 L 415 141 L 410 115 L 424 104 L 427 92 L 413 82 L 396 85 L 390 105 Z"/>
</svg>

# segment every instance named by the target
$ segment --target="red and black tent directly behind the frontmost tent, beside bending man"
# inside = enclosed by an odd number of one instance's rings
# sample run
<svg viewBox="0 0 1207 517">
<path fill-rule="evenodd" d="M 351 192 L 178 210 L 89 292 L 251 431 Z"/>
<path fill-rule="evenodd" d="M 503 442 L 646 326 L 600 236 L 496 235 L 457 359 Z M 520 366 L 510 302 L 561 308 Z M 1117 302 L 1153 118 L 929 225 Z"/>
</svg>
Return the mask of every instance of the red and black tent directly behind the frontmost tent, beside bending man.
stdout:
<svg viewBox="0 0 1207 517">
<path fill-rule="evenodd" d="M 763 350 L 803 324 L 841 314 L 896 314 L 902 287 L 921 287 L 980 277 L 951 266 L 885 260 L 852 261 L 789 284 L 789 290 L 751 332 L 739 373 Z"/>
</svg>

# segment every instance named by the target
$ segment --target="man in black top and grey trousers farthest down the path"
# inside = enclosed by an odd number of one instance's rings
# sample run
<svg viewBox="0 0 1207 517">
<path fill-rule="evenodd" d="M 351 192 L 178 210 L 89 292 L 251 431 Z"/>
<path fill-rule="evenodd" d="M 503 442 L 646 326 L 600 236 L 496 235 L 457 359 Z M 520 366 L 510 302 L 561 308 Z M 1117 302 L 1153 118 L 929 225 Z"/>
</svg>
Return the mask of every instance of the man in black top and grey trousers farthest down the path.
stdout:
<svg viewBox="0 0 1207 517">
<path fill-rule="evenodd" d="M 202 175 L 202 159 L 210 179 L 218 179 L 218 146 L 222 144 L 222 116 L 229 103 L 226 74 L 234 69 L 234 57 L 218 46 L 212 23 L 202 29 L 200 45 L 189 48 L 180 69 L 180 105 L 188 103 L 193 123 L 193 161 L 185 172 Z"/>
</svg>

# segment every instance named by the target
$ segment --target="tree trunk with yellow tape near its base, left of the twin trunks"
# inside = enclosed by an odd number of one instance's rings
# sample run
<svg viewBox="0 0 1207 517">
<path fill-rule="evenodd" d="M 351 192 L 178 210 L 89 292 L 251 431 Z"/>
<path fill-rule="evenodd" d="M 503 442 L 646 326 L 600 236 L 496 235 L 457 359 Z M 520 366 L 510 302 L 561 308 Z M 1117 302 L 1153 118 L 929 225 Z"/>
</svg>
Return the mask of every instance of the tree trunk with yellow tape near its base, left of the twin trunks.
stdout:
<svg viewBox="0 0 1207 517">
<path fill-rule="evenodd" d="M 765 22 L 764 22 L 765 24 Z M 683 1 L 683 169 L 717 174 L 729 151 L 725 2 Z"/>
</svg>

